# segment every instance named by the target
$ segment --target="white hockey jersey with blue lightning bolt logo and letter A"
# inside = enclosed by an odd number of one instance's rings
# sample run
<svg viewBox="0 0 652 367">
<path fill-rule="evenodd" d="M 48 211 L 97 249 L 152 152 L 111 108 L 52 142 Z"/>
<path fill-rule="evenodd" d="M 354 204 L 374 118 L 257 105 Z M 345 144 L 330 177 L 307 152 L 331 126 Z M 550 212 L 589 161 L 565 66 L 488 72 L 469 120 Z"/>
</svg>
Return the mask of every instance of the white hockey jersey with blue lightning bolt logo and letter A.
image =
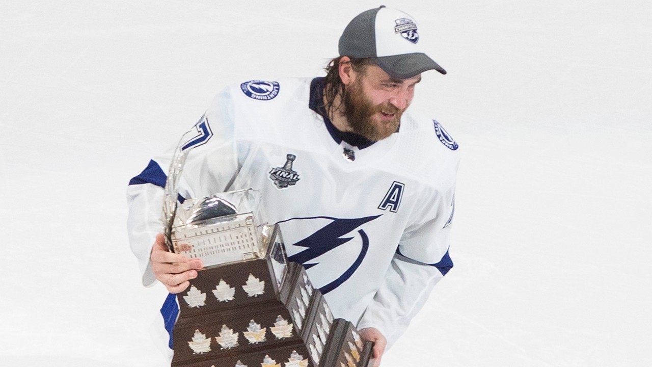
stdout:
<svg viewBox="0 0 652 367">
<path fill-rule="evenodd" d="M 306 267 L 334 315 L 378 328 L 391 345 L 452 267 L 458 144 L 408 109 L 397 133 L 351 146 L 319 113 L 321 83 L 252 80 L 224 89 L 181 144 L 193 149 L 180 195 L 261 191 L 289 259 Z M 155 281 L 149 253 L 163 228 L 172 153 L 153 159 L 128 187 L 128 231 L 145 285 Z M 174 306 L 164 307 L 168 331 Z"/>
</svg>

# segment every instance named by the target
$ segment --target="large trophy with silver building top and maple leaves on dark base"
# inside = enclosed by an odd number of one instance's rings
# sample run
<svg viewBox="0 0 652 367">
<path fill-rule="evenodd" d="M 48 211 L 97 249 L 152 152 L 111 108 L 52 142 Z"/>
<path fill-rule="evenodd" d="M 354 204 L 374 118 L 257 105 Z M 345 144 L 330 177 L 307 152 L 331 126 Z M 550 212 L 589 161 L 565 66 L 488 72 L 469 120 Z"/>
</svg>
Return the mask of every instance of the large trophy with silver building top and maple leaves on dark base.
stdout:
<svg viewBox="0 0 652 367">
<path fill-rule="evenodd" d="M 372 366 L 372 343 L 334 319 L 303 266 L 288 262 L 259 202 L 257 191 L 243 190 L 176 208 L 170 249 L 205 268 L 177 295 L 172 366 Z"/>
</svg>

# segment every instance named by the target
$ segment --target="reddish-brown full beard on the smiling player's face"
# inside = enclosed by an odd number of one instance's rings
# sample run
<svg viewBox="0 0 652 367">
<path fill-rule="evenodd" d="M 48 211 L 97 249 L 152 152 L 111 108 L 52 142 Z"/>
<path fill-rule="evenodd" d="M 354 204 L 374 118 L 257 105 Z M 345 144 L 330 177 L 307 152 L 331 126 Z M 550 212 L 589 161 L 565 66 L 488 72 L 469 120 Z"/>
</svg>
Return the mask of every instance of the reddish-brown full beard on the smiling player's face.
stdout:
<svg viewBox="0 0 652 367">
<path fill-rule="evenodd" d="M 348 121 L 353 133 L 377 142 L 398 131 L 404 110 L 400 110 L 390 103 L 372 104 L 364 96 L 360 82 L 349 84 L 348 88 L 344 90 L 343 103 L 342 116 Z M 389 121 L 374 120 L 374 114 L 381 111 L 386 114 L 394 114 L 394 117 Z"/>
</svg>

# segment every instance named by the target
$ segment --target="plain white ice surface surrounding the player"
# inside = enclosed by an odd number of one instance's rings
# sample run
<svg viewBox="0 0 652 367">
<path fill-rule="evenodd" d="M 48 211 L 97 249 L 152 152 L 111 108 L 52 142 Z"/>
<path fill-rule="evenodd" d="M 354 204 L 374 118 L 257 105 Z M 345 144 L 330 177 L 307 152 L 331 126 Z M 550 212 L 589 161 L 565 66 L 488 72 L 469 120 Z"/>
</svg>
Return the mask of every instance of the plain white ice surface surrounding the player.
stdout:
<svg viewBox="0 0 652 367">
<path fill-rule="evenodd" d="M 125 187 L 225 84 L 316 76 L 377 1 L 0 3 L 0 366 L 163 366 Z M 383 366 L 652 366 L 652 5 L 385 1 L 449 74 L 455 267 Z M 645 345 L 648 345 L 645 347 Z"/>
</svg>

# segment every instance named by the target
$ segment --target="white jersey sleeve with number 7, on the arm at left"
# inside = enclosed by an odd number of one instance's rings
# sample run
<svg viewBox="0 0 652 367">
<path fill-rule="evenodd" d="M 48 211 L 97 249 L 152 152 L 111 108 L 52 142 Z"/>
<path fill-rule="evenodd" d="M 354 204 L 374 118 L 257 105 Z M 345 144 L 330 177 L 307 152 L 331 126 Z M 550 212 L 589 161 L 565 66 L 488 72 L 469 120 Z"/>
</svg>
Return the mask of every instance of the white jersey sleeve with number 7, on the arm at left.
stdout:
<svg viewBox="0 0 652 367">
<path fill-rule="evenodd" d="M 164 187 L 175 150 L 190 150 L 179 180 L 179 200 L 227 191 L 238 169 L 233 131 L 233 108 L 225 89 L 177 146 L 153 158 L 143 172 L 130 180 L 126 192 L 127 231 L 143 285 L 155 282 L 149 255 L 156 235 L 164 229 Z"/>
</svg>

